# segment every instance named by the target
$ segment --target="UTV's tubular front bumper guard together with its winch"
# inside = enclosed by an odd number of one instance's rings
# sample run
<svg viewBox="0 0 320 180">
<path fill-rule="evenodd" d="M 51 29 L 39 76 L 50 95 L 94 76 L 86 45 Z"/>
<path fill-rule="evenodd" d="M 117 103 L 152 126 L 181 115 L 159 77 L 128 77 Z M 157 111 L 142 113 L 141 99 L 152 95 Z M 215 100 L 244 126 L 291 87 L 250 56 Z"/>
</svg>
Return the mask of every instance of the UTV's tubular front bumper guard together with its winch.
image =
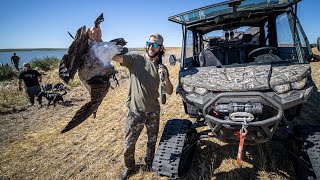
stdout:
<svg viewBox="0 0 320 180">
<path fill-rule="evenodd" d="M 284 112 L 279 103 L 261 92 L 225 92 L 204 105 L 203 116 L 219 139 L 238 142 L 240 130 L 247 130 L 246 144 L 269 141 Z"/>
</svg>

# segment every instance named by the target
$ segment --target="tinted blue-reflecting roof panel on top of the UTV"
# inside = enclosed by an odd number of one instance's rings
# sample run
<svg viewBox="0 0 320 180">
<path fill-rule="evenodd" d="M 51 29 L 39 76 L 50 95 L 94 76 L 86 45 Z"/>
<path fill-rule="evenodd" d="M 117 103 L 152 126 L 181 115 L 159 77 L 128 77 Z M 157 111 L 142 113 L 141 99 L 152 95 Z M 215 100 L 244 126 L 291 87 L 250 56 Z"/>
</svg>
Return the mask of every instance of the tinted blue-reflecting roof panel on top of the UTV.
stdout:
<svg viewBox="0 0 320 180">
<path fill-rule="evenodd" d="M 221 21 L 218 17 L 226 20 L 237 17 L 249 18 L 252 13 L 274 12 L 285 10 L 301 0 L 230 0 L 210 6 L 187 11 L 169 17 L 170 21 L 191 26 L 199 23 L 206 23 L 212 20 Z"/>
</svg>

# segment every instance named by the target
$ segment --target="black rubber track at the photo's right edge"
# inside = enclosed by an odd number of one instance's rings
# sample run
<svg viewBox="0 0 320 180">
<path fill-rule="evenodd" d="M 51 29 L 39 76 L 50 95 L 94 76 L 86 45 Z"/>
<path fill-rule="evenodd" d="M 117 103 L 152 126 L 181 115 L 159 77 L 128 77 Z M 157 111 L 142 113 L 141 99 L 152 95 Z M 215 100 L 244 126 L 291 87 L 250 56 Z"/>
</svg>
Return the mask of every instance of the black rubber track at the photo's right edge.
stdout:
<svg viewBox="0 0 320 180">
<path fill-rule="evenodd" d="M 313 171 L 317 179 L 320 179 L 320 126 L 301 126 L 299 129 Z"/>
</svg>

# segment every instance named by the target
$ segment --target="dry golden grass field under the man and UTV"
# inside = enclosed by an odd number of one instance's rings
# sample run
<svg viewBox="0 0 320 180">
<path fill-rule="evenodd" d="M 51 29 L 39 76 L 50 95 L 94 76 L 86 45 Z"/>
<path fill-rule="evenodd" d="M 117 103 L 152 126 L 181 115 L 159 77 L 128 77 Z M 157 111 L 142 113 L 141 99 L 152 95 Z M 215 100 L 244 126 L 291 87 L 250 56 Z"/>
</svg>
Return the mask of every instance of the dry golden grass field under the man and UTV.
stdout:
<svg viewBox="0 0 320 180">
<path fill-rule="evenodd" d="M 319 52 L 316 52 L 319 54 Z M 179 49 L 167 54 L 180 56 Z M 168 63 L 167 63 L 168 64 Z M 174 86 L 178 82 L 179 63 L 169 66 Z M 64 97 L 66 106 L 36 107 L 0 115 L 0 179 L 118 179 L 123 167 L 124 101 L 128 79 L 123 68 L 120 86 L 110 89 L 97 112 L 73 130 L 60 134 L 75 112 L 88 101 L 83 86 L 71 88 Z M 312 63 L 312 76 L 320 88 L 320 62 Z M 50 76 L 50 77 L 49 77 Z M 58 73 L 44 76 L 47 82 L 58 81 Z M 9 88 L 9 89 L 8 89 Z M 15 87 L 16 88 L 16 87 Z M 13 91 L 14 86 L 6 86 Z M 1 94 L 2 96 L 3 94 Z M 22 97 L 22 95 L 17 95 Z M 188 118 L 178 95 L 167 97 L 161 105 L 161 135 L 170 118 Z M 25 101 L 23 97 L 21 100 Z M 46 102 L 46 100 L 44 100 Z M 320 124 L 319 92 L 303 110 L 299 123 Z M 143 164 L 146 132 L 136 145 L 136 162 Z M 193 166 L 183 179 L 295 179 L 286 150 L 279 142 L 245 146 L 242 165 L 236 164 L 237 147 L 215 138 L 204 139 L 197 145 Z M 166 179 L 140 170 L 130 179 Z"/>
</svg>

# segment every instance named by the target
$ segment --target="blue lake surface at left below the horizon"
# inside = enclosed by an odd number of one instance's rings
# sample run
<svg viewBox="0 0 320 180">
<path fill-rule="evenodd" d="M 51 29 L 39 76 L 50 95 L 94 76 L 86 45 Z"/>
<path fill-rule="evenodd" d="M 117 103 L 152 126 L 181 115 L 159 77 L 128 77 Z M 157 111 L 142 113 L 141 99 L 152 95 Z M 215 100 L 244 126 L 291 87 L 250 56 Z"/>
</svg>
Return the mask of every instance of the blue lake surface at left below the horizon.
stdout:
<svg viewBox="0 0 320 180">
<path fill-rule="evenodd" d="M 17 56 L 20 57 L 20 66 L 23 63 L 30 62 L 36 58 L 43 57 L 57 57 L 61 59 L 62 56 L 67 52 L 66 50 L 37 50 L 37 51 L 16 51 Z M 13 55 L 13 51 L 11 52 L 0 52 L 0 63 L 2 64 L 11 64 L 11 56 Z"/>
</svg>

